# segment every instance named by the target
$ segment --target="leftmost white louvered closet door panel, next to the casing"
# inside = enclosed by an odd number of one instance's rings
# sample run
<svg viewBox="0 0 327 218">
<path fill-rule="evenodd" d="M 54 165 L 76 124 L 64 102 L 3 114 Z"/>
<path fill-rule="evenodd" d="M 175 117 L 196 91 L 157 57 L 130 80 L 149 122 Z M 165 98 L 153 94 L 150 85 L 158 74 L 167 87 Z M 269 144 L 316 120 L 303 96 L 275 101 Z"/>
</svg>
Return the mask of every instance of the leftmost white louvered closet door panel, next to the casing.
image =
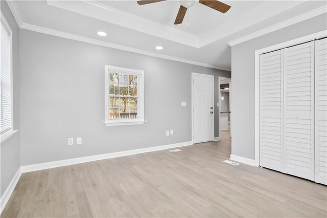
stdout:
<svg viewBox="0 0 327 218">
<path fill-rule="evenodd" d="M 260 166 L 284 171 L 283 51 L 260 55 Z"/>
</svg>

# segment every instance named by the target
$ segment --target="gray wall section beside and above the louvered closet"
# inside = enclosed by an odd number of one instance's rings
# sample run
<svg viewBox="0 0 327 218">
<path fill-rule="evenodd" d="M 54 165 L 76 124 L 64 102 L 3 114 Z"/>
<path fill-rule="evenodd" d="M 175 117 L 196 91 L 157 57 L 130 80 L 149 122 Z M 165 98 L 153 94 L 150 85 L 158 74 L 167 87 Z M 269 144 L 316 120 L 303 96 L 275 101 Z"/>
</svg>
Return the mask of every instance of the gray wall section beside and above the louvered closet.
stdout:
<svg viewBox="0 0 327 218">
<path fill-rule="evenodd" d="M 326 14 L 231 48 L 231 154 L 254 159 L 254 51 L 327 29 Z"/>
</svg>

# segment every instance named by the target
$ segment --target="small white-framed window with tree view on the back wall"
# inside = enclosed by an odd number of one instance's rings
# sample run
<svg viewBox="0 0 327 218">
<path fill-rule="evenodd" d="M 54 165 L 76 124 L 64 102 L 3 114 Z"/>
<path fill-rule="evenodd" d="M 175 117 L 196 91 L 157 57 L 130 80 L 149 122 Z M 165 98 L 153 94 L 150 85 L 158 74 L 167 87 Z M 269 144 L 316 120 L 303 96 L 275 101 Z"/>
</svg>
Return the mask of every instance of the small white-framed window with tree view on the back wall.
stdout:
<svg viewBox="0 0 327 218">
<path fill-rule="evenodd" d="M 106 121 L 111 125 L 143 124 L 144 71 L 106 66 Z"/>
</svg>

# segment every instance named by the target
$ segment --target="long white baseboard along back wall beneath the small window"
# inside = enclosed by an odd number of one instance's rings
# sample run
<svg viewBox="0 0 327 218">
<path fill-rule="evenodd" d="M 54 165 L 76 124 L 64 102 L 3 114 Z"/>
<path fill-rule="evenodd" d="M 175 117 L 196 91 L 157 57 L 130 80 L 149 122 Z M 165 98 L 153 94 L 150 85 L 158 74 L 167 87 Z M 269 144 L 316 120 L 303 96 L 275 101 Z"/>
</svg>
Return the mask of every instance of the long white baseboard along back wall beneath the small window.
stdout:
<svg viewBox="0 0 327 218">
<path fill-rule="evenodd" d="M 143 154 L 146 152 L 166 150 L 166 149 L 189 146 L 189 145 L 193 145 L 193 142 L 192 141 L 180 142 L 180 143 L 175 143 L 175 144 L 119 151 L 119 152 L 113 152 L 113 153 L 102 154 L 102 155 L 94 155 L 94 156 L 46 162 L 46 163 L 40 163 L 40 164 L 25 165 L 25 166 L 21 166 L 21 172 L 32 172 L 32 171 L 42 170 L 42 169 L 51 169 L 51 168 L 56 168 L 56 167 L 61 167 L 61 166 L 68 166 L 68 165 L 73 165 L 73 164 L 86 163 L 86 162 L 90 162 L 90 161 L 98 161 L 98 160 L 111 159 L 111 158 L 119 158 L 119 157 L 124 157 L 124 156 Z"/>
</svg>

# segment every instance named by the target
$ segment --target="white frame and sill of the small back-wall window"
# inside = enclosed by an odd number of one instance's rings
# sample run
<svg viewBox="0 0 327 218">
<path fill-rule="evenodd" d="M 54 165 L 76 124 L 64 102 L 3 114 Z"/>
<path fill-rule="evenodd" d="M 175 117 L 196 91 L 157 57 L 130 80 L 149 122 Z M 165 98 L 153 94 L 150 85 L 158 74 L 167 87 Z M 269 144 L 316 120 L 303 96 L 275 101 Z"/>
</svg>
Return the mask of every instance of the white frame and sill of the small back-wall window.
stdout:
<svg viewBox="0 0 327 218">
<path fill-rule="evenodd" d="M 132 119 L 109 119 L 109 78 L 108 71 L 119 71 L 121 73 L 126 73 L 129 75 L 137 75 L 137 118 Z M 120 68 L 114 66 L 105 66 L 105 122 L 106 126 L 118 126 L 118 125 L 136 125 L 136 124 L 144 124 L 144 71 L 142 70 L 134 70 L 128 68 Z"/>
</svg>

